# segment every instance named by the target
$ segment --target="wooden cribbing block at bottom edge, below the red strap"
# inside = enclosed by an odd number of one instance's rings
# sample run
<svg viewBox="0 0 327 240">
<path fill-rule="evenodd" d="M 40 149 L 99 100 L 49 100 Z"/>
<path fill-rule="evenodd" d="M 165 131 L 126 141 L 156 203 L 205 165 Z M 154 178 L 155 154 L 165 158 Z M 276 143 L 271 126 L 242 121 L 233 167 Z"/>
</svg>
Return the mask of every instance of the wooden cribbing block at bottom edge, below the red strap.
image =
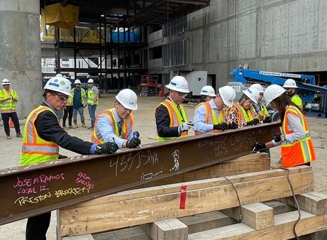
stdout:
<svg viewBox="0 0 327 240">
<path fill-rule="evenodd" d="M 167 219 L 143 224 L 142 228 L 148 233 L 152 240 L 187 240 L 187 225 L 178 219 Z"/>
</svg>

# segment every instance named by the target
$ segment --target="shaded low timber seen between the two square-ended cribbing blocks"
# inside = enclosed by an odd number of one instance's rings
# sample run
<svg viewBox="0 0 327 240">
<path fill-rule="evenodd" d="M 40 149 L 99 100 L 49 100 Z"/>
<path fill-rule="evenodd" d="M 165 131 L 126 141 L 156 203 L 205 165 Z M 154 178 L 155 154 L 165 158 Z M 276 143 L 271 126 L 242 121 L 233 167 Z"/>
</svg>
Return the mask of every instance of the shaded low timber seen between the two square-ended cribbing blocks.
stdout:
<svg viewBox="0 0 327 240">
<path fill-rule="evenodd" d="M 198 231 L 205 231 L 209 229 L 216 229 L 231 224 L 235 224 L 237 221 L 220 211 L 206 212 L 203 214 L 196 214 L 194 216 L 181 217 L 180 222 L 187 225 L 189 234 L 193 234 Z"/>
</svg>

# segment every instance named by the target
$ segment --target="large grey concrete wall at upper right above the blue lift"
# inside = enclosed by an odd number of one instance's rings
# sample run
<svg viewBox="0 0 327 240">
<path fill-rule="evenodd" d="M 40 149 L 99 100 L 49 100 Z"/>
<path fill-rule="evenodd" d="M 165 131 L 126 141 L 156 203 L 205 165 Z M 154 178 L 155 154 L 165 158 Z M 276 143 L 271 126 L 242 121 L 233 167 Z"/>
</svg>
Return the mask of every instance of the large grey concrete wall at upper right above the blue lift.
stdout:
<svg viewBox="0 0 327 240">
<path fill-rule="evenodd" d="M 245 63 L 258 70 L 327 70 L 326 0 L 211 0 L 189 14 L 186 35 L 189 64 L 179 70 L 216 74 L 217 87 Z"/>
</svg>

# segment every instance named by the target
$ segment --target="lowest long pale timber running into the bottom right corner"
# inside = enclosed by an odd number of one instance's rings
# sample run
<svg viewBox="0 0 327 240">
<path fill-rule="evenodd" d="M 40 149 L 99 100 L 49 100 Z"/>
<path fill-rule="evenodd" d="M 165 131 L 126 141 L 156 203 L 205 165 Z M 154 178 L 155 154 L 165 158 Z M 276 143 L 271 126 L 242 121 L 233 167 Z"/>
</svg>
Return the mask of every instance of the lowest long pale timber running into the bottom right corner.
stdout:
<svg viewBox="0 0 327 240">
<path fill-rule="evenodd" d="M 255 230 L 245 224 L 233 224 L 227 227 L 201 231 L 189 234 L 189 240 L 218 240 L 218 239 L 292 239 L 293 226 L 298 212 L 287 212 L 275 216 L 275 226 Z M 327 229 L 327 214 L 314 215 L 301 211 L 301 221 L 296 225 L 296 234 L 302 236 Z"/>
</svg>

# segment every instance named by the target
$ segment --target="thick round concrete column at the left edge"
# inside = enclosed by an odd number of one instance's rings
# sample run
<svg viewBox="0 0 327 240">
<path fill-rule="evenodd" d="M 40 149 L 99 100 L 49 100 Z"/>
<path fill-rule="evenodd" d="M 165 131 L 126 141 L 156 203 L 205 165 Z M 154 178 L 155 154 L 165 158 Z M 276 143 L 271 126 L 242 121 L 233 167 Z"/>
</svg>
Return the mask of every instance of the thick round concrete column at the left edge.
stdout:
<svg viewBox="0 0 327 240">
<path fill-rule="evenodd" d="M 24 118 L 43 100 L 39 0 L 0 0 L 0 53 L 0 81 L 11 81 Z"/>
</svg>

